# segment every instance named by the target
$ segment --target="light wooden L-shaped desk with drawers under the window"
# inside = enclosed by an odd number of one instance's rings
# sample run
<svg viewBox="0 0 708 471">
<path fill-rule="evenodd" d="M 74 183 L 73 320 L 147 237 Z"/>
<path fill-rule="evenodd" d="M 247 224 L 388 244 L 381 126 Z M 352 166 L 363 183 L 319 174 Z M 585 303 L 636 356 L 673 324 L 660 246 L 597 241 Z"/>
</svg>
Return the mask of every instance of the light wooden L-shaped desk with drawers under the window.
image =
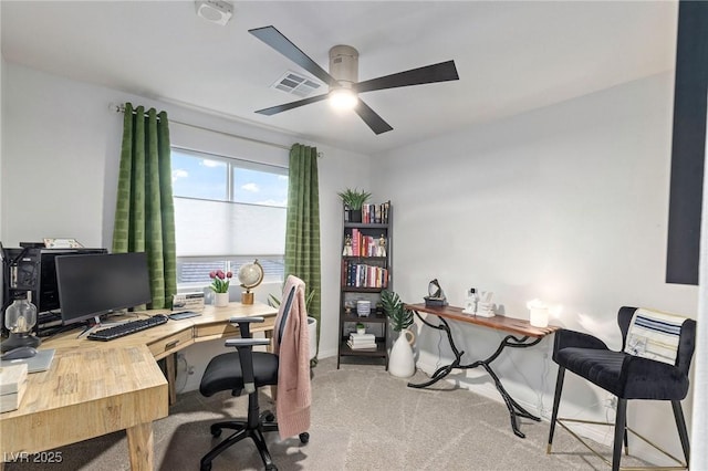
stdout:
<svg viewBox="0 0 708 471">
<path fill-rule="evenodd" d="M 228 323 L 232 316 L 266 317 L 253 331 L 271 337 L 277 314 L 260 303 L 209 305 L 198 317 L 169 321 L 111 342 L 76 338 L 77 331 L 45 341 L 40 348 L 56 349 L 51 368 L 29 375 L 20 408 L 0 415 L 0 467 L 2 461 L 31 460 L 33 453 L 125 429 L 131 468 L 153 470 L 153 421 L 167 417 L 174 394 L 171 354 L 197 342 L 238 336 L 238 328 Z M 155 362 L 160 358 L 167 360 L 171 387 Z"/>
</svg>

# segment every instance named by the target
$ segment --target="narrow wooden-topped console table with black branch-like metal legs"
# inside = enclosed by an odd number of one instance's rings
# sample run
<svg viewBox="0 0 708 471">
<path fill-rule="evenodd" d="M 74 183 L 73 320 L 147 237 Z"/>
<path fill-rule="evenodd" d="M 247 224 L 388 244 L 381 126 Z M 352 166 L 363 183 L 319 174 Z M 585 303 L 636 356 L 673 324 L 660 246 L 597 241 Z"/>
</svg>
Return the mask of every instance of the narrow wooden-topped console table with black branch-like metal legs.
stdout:
<svg viewBox="0 0 708 471">
<path fill-rule="evenodd" d="M 493 379 L 497 390 L 499 391 L 502 399 L 504 400 L 504 404 L 507 405 L 507 409 L 509 409 L 511 428 L 513 429 L 514 435 L 517 437 L 525 438 L 525 435 L 522 433 L 521 430 L 519 430 L 519 423 L 518 423 L 517 417 L 523 417 L 527 419 L 535 420 L 537 422 L 541 421 L 541 418 L 525 410 L 523 407 L 519 405 L 519 402 L 517 402 L 509 395 L 507 389 L 504 389 L 503 385 L 501 384 L 501 380 L 499 379 L 494 370 L 491 368 L 491 363 L 501 354 L 501 352 L 506 347 L 510 347 L 510 348 L 531 347 L 538 344 L 539 342 L 541 342 L 543 337 L 545 337 L 549 334 L 552 334 L 553 332 L 558 331 L 561 327 L 558 327 L 554 325 L 549 325 L 548 327 L 534 327 L 529 323 L 529 321 L 506 317 L 500 315 L 496 315 L 493 317 L 481 317 L 481 316 L 476 316 L 471 314 L 465 314 L 462 313 L 461 307 L 452 307 L 452 306 L 428 307 L 425 304 L 405 304 L 404 307 L 413 311 L 416 314 L 416 316 L 428 327 L 436 328 L 438 331 L 445 331 L 445 333 L 447 334 L 448 343 L 450 344 L 450 348 L 452 349 L 452 354 L 455 355 L 455 360 L 449 365 L 439 367 L 433 374 L 433 376 L 430 377 L 430 380 L 426 383 L 420 383 L 420 384 L 408 383 L 408 386 L 412 388 L 425 388 L 445 378 L 447 375 L 450 374 L 450 371 L 452 371 L 452 369 L 456 369 L 456 368 L 470 369 L 470 368 L 477 368 L 481 366 L 487 370 L 489 376 L 491 376 L 491 378 Z M 438 325 L 431 324 L 430 322 L 427 321 L 426 318 L 427 316 L 424 317 L 420 315 L 420 313 L 431 314 L 437 316 L 439 320 L 439 324 Z M 446 320 L 458 321 L 467 324 L 475 324 L 475 325 L 479 325 L 488 328 L 493 328 L 496 331 L 506 332 L 509 335 L 502 338 L 497 350 L 493 354 L 491 354 L 489 357 L 485 359 L 478 359 L 467 365 L 462 365 L 461 359 L 465 352 L 460 352 L 455 345 L 455 341 L 452 339 L 452 334 L 450 333 L 450 326 Z"/>
</svg>

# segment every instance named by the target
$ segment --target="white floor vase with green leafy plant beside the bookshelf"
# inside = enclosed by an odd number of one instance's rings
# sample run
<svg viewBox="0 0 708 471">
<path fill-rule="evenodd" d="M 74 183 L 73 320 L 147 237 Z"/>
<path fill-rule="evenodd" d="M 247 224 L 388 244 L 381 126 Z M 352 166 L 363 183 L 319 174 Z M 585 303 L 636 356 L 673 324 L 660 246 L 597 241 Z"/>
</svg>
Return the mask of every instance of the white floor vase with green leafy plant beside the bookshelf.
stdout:
<svg viewBox="0 0 708 471">
<path fill-rule="evenodd" d="M 412 348 L 415 334 L 408 329 L 413 324 L 413 311 L 405 308 L 398 294 L 388 290 L 381 292 L 381 303 L 391 322 L 391 327 L 394 332 L 399 333 L 388 356 L 388 373 L 408 378 L 416 373 L 416 362 Z"/>
</svg>

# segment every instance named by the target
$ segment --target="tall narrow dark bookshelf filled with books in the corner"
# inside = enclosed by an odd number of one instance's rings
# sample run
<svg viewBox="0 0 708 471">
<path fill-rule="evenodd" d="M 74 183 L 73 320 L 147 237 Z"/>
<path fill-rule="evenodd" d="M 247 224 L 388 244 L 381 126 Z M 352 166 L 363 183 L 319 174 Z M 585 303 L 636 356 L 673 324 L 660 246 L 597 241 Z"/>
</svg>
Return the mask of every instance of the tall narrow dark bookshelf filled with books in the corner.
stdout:
<svg viewBox="0 0 708 471">
<path fill-rule="evenodd" d="M 344 207 L 342 219 L 337 368 L 342 362 L 383 364 L 388 368 L 388 320 L 379 302 L 383 290 L 393 290 L 391 201 L 364 205 L 361 219 Z M 358 301 L 371 302 L 367 316 L 357 314 Z M 366 334 L 374 334 L 375 348 L 352 348 L 347 344 L 357 323 L 364 324 Z"/>
</svg>

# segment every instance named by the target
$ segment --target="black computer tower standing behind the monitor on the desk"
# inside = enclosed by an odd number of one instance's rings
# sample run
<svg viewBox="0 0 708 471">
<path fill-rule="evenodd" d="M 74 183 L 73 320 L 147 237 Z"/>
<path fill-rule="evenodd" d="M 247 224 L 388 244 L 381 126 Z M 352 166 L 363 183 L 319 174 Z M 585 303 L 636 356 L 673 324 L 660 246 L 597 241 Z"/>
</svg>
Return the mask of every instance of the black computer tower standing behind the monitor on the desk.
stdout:
<svg viewBox="0 0 708 471">
<path fill-rule="evenodd" d="M 40 243 L 21 243 L 20 248 L 2 248 L 2 334 L 7 334 L 4 312 L 18 292 L 29 292 L 37 306 L 39 332 L 42 320 L 51 318 L 43 313 L 61 308 L 56 286 L 54 258 L 58 255 L 107 253 L 106 249 L 46 249 Z"/>
</svg>

